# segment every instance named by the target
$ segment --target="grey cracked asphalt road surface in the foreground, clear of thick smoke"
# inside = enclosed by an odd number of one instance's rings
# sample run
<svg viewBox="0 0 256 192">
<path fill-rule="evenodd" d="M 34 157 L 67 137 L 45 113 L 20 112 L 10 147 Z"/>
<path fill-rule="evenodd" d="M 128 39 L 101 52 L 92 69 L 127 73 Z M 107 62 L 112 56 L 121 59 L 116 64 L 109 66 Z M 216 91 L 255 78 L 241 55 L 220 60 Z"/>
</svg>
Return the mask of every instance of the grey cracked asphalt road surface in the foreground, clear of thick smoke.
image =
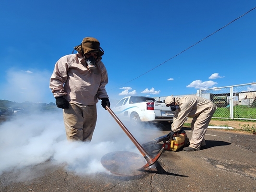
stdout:
<svg viewBox="0 0 256 192">
<path fill-rule="evenodd" d="M 168 132 L 157 131 L 156 137 Z M 0 192 L 256 192 L 256 135 L 207 130 L 206 140 L 200 151 L 164 151 L 137 176 L 78 176 L 47 161 L 2 174 Z"/>
</svg>

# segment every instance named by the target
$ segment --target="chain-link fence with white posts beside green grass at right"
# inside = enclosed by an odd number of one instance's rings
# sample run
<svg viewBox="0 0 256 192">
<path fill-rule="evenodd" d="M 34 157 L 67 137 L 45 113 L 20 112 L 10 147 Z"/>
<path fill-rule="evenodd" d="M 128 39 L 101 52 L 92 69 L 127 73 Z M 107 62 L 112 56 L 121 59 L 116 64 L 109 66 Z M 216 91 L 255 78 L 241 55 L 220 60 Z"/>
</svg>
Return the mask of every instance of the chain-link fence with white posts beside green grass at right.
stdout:
<svg viewBox="0 0 256 192">
<path fill-rule="evenodd" d="M 212 118 L 256 120 L 256 83 L 200 89 L 198 96 L 217 106 Z"/>
</svg>

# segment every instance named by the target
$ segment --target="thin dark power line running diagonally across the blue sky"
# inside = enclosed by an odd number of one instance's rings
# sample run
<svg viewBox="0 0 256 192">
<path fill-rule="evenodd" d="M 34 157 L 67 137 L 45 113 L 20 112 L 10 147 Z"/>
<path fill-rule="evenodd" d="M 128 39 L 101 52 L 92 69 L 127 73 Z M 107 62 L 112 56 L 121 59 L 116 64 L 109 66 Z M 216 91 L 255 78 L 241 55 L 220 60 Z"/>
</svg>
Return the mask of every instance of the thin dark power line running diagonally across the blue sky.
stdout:
<svg viewBox="0 0 256 192">
<path fill-rule="evenodd" d="M 185 52 L 186 50 L 188 50 L 188 49 L 194 47 L 196 44 L 202 42 L 203 40 L 205 40 L 205 39 L 208 38 L 209 36 L 212 36 L 213 34 L 217 33 L 218 31 L 220 31 L 221 29 L 225 28 L 225 27 L 228 26 L 229 24 L 232 24 L 234 21 L 240 19 L 241 17 L 243 17 L 243 16 L 246 15 L 247 13 L 253 11 L 254 9 L 256 9 L 256 7 L 254 7 L 253 9 L 251 9 L 251 10 L 248 11 L 248 12 L 245 12 L 245 13 L 244 13 L 243 15 L 241 15 L 240 17 L 234 19 L 232 22 L 230 22 L 230 23 L 224 25 L 223 27 L 219 28 L 217 31 L 215 31 L 215 32 L 213 32 L 212 34 L 206 36 L 205 38 L 203 38 L 202 40 L 198 41 L 198 42 L 195 43 L 194 45 L 192 45 L 192 46 L 190 46 L 190 47 L 184 49 L 182 52 L 180 52 L 180 53 L 178 53 L 177 55 L 173 56 L 173 57 L 170 58 L 169 60 L 172 60 L 173 58 L 175 58 L 175 57 L 177 57 L 178 55 L 182 54 L 182 53 Z M 141 74 L 141 75 L 135 77 L 134 79 L 132 79 L 131 81 L 126 82 L 125 84 L 128 84 L 128 83 L 134 81 L 135 79 L 138 79 L 139 77 L 145 75 L 146 73 L 153 71 L 154 69 L 158 68 L 159 66 L 161 66 L 161 65 L 164 64 L 164 63 L 166 63 L 166 62 L 169 61 L 169 60 L 166 60 L 166 61 L 162 62 L 161 64 L 157 65 L 156 67 L 152 68 L 151 70 L 149 70 L 149 71 L 147 71 L 147 72 L 145 72 L 145 73 L 143 73 L 143 74 Z M 124 85 L 124 84 L 121 84 L 121 85 L 119 85 L 119 86 L 117 86 L 117 87 L 115 87 L 115 88 L 113 88 L 113 89 L 116 89 L 116 88 L 121 87 L 121 86 L 123 86 L 123 85 Z M 110 90 L 113 90 L 113 89 L 110 89 Z"/>
</svg>

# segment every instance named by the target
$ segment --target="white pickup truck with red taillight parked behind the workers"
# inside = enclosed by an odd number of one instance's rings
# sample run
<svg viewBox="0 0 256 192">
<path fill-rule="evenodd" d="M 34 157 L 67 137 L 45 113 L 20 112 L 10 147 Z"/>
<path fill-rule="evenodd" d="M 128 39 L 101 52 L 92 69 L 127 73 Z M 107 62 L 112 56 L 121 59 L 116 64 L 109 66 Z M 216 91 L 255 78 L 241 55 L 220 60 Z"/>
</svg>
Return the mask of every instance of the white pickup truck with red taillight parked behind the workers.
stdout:
<svg viewBox="0 0 256 192">
<path fill-rule="evenodd" d="M 173 121 L 174 116 L 174 112 L 165 103 L 146 96 L 124 97 L 112 110 L 120 120 L 131 121 L 133 126 L 141 121 L 164 124 Z"/>
</svg>

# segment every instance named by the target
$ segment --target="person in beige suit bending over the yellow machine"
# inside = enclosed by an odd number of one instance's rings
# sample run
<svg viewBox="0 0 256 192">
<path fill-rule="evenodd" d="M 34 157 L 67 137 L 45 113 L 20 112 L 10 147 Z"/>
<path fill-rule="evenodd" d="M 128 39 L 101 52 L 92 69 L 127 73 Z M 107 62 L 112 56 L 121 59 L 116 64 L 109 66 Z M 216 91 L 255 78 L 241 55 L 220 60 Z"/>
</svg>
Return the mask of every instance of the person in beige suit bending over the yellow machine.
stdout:
<svg viewBox="0 0 256 192">
<path fill-rule="evenodd" d="M 196 151 L 206 145 L 205 134 L 207 127 L 217 107 L 215 104 L 203 97 L 199 96 L 168 96 L 165 99 L 167 107 L 171 107 L 174 111 L 174 118 L 171 124 L 171 132 L 169 136 L 176 134 L 183 127 L 187 117 L 192 117 L 191 122 L 192 138 L 190 145 L 184 147 L 184 151 Z"/>
</svg>

